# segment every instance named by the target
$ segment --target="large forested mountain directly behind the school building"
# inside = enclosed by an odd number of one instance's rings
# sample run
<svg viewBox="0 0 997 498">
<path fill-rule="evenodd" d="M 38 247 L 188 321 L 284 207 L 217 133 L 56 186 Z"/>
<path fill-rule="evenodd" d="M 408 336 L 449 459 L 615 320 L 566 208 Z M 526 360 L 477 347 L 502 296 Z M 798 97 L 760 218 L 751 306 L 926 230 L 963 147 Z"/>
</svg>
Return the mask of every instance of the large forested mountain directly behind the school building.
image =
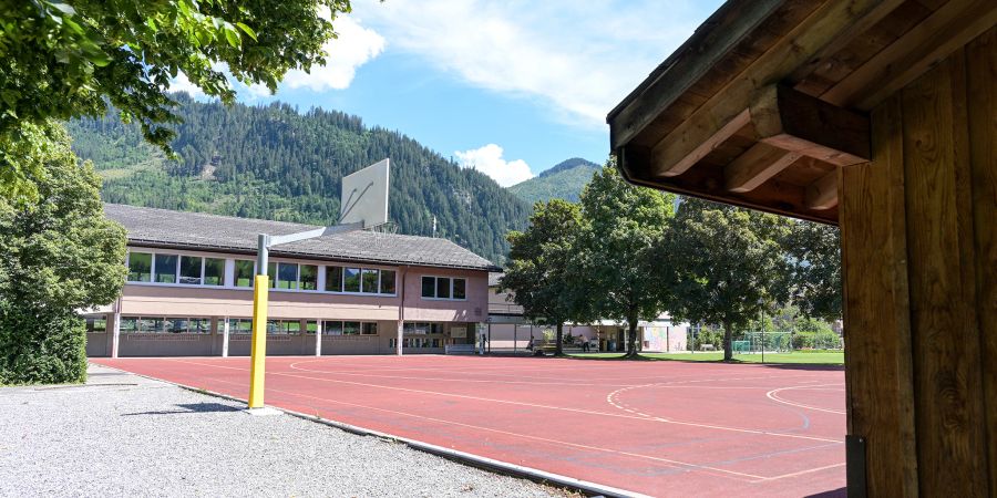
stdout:
<svg viewBox="0 0 997 498">
<path fill-rule="evenodd" d="M 461 168 L 398 132 L 352 115 L 286 104 L 181 103 L 169 160 L 114 112 L 68 124 L 73 149 L 104 178 L 105 201 L 282 221 L 330 224 L 340 179 L 391 158 L 389 220 L 399 234 L 436 236 L 503 264 L 505 234 L 528 204 L 486 175 Z"/>
</svg>

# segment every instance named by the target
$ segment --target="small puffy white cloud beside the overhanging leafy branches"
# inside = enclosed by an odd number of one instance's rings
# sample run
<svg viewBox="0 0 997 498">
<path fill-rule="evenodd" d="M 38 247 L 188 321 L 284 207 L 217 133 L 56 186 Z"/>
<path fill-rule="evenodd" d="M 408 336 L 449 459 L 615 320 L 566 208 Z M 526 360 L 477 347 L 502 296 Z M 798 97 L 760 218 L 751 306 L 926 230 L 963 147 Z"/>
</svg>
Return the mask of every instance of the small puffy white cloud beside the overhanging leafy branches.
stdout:
<svg viewBox="0 0 997 498">
<path fill-rule="evenodd" d="M 348 89 L 357 69 L 384 51 L 384 38 L 372 29 L 363 28 L 357 20 L 340 17 L 332 24 L 339 38 L 325 45 L 326 65 L 312 66 L 310 74 L 301 70 L 288 71 L 282 86 L 307 87 L 315 92 Z M 259 96 L 259 92 L 253 93 Z"/>
</svg>

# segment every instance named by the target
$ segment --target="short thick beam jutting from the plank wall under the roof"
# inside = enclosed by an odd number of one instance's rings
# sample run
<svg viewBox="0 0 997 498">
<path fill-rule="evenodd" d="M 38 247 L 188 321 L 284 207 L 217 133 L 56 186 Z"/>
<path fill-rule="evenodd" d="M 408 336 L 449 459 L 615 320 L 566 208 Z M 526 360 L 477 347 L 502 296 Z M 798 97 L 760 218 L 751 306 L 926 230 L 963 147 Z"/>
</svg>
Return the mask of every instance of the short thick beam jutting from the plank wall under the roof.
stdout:
<svg viewBox="0 0 997 498">
<path fill-rule="evenodd" d="M 750 107 L 762 142 L 835 166 L 867 163 L 868 117 L 789 86 L 762 90 Z"/>
</svg>

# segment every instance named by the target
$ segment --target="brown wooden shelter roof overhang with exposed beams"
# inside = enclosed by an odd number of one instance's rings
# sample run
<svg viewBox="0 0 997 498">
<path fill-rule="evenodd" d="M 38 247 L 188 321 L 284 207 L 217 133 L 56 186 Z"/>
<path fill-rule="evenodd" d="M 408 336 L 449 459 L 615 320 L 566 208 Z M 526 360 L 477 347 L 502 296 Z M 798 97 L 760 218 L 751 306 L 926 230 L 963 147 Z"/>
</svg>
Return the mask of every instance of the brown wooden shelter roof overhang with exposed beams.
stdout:
<svg viewBox="0 0 997 498">
<path fill-rule="evenodd" d="M 837 222 L 868 112 L 997 22 L 994 0 L 729 0 L 614 108 L 629 181 Z"/>
</svg>

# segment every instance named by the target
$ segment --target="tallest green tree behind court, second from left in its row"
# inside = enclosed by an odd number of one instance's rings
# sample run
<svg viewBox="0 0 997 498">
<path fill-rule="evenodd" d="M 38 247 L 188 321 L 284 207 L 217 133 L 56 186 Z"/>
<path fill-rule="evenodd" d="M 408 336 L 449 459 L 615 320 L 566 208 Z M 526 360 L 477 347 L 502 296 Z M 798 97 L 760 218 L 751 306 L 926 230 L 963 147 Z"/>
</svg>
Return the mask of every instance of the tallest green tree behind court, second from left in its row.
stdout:
<svg viewBox="0 0 997 498">
<path fill-rule="evenodd" d="M 611 163 L 582 191 L 586 221 L 583 277 L 592 314 L 627 323 L 627 356 L 637 355 L 637 323 L 657 319 L 671 299 L 671 258 L 657 249 L 667 239 L 674 196 L 627 184 Z"/>
</svg>

